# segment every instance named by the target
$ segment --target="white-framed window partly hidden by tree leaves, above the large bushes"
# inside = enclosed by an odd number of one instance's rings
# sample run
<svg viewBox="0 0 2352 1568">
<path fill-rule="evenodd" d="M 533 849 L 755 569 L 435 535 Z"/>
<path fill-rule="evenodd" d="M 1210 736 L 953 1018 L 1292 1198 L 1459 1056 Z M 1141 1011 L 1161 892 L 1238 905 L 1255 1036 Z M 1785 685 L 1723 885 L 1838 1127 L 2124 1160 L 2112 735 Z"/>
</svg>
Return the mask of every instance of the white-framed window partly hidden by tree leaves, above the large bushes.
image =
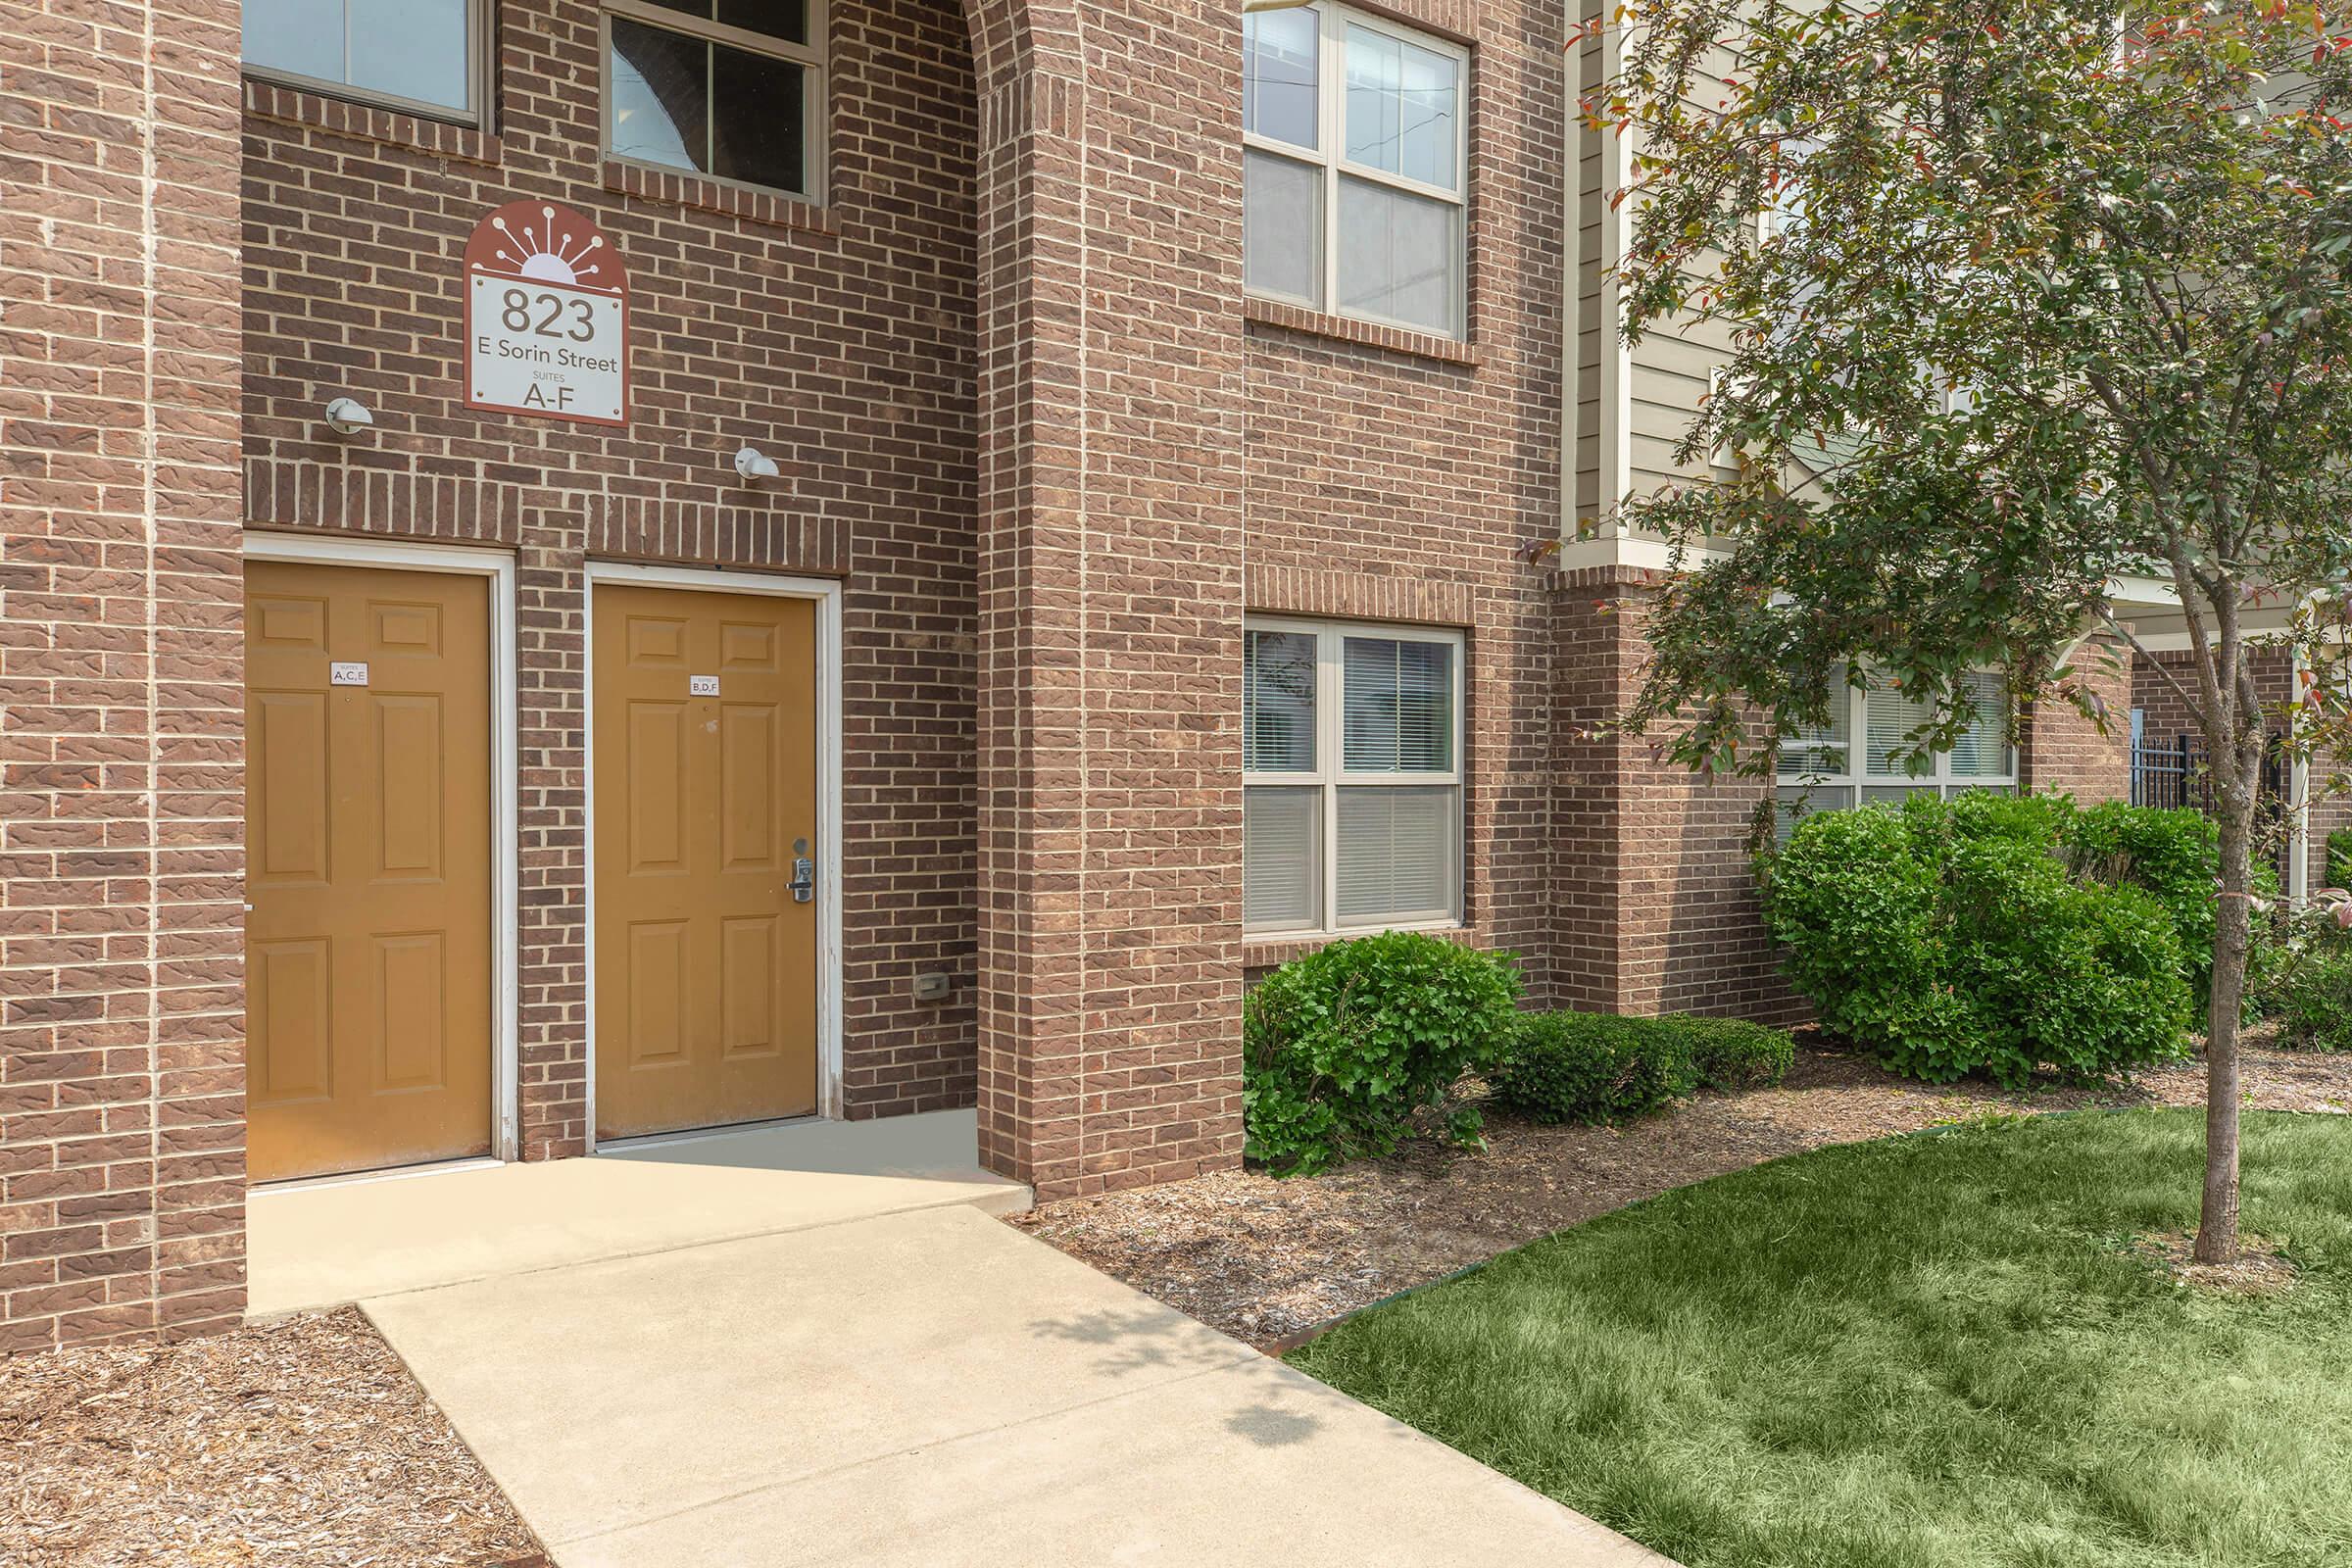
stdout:
<svg viewBox="0 0 2352 1568">
<path fill-rule="evenodd" d="M 1896 752 L 1926 724 L 1931 705 L 1870 672 L 1830 701 L 1830 722 L 1780 743 L 1778 832 L 1797 827 L 1806 811 L 1842 811 L 1877 802 L 1900 804 L 1912 795 L 1952 797 L 1966 790 L 2018 792 L 2018 752 L 2009 745 L 2009 686 L 1992 670 L 1966 677 L 1976 717 L 1947 752 L 1905 764 Z"/>
</svg>

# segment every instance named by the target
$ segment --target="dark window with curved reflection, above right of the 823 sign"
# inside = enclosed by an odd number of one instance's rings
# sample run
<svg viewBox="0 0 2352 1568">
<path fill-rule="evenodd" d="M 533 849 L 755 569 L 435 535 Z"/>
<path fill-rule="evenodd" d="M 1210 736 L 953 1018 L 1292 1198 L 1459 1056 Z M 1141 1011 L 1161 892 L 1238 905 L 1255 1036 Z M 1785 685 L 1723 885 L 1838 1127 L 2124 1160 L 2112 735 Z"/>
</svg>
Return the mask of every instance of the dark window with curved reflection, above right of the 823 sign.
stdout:
<svg viewBox="0 0 2352 1568">
<path fill-rule="evenodd" d="M 823 197 L 823 0 L 607 0 L 604 150 Z"/>
</svg>

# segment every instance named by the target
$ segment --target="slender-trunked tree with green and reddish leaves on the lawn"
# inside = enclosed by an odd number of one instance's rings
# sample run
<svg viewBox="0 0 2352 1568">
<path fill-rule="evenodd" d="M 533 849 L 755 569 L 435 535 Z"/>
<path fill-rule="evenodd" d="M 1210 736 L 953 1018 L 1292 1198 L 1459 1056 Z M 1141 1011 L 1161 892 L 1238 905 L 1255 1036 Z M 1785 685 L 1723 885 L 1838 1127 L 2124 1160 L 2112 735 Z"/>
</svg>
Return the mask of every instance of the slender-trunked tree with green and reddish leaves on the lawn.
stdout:
<svg viewBox="0 0 2352 1568">
<path fill-rule="evenodd" d="M 1764 773 L 1863 663 L 1931 705 L 1922 755 L 1973 717 L 1971 668 L 2107 722 L 2072 649 L 2138 646 L 2110 585 L 2169 581 L 2223 846 L 2197 1258 L 2234 1258 L 2265 729 L 2352 741 L 2321 701 L 2352 621 L 2345 12 L 1630 0 L 1602 26 L 1623 331 L 1729 329 L 1682 461 L 1743 454 L 1623 503 L 1686 567 L 1625 722 Z M 2310 684 L 2265 715 L 2253 656 L 2288 646 Z"/>
</svg>

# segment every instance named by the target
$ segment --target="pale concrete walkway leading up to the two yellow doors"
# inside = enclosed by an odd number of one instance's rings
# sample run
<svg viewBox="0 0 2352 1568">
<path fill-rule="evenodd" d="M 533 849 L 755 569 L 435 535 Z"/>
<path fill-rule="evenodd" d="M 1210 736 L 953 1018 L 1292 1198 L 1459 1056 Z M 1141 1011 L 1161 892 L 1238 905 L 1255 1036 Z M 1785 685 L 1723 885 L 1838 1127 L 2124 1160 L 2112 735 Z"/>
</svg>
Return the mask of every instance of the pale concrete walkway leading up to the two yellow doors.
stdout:
<svg viewBox="0 0 2352 1568">
<path fill-rule="evenodd" d="M 362 1307 L 562 1568 L 1665 1563 L 1000 1225 L 988 1182 L 964 1185 L 974 1204 L 946 1201 L 946 1175 L 858 1178 L 931 1180 L 943 1201 L 873 1187 L 889 1208 L 661 1246 L 663 1220 L 633 1211 L 691 1194 L 696 1173 L 774 1182 L 724 1222 L 774 1222 L 797 1180 L 807 1213 L 847 1199 L 837 1171 L 652 1154 L 569 1161 L 595 1168 L 572 1180 L 600 1213 L 553 1239 L 527 1234 L 550 1213 L 539 1192 L 492 1215 L 524 1234 L 442 1206 L 440 1267 L 409 1213 L 426 1204 L 376 1194 L 501 1173 L 315 1190 L 388 1204 L 407 1276 L 461 1276 Z M 278 1225 L 270 1246 L 294 1246 L 294 1218 Z M 564 1255 L 607 1229 L 619 1248 Z M 487 1267 L 501 1251 L 513 1269 Z M 322 1269 L 303 1279 L 270 1293 L 332 1293 Z"/>
</svg>

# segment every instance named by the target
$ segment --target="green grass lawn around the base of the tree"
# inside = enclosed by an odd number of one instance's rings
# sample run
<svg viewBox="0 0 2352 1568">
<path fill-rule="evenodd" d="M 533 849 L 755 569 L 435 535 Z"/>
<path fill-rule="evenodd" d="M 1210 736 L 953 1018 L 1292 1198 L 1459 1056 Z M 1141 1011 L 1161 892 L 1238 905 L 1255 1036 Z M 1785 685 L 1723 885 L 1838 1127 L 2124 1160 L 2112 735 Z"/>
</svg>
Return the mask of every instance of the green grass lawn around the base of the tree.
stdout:
<svg viewBox="0 0 2352 1568">
<path fill-rule="evenodd" d="M 2352 1563 L 2352 1119 L 2246 1117 L 2187 1291 L 2201 1117 L 1820 1150 L 1374 1307 L 1291 1363 L 1689 1568 Z M 1477 1521 L 1463 1530 L 1475 1535 Z"/>
</svg>

